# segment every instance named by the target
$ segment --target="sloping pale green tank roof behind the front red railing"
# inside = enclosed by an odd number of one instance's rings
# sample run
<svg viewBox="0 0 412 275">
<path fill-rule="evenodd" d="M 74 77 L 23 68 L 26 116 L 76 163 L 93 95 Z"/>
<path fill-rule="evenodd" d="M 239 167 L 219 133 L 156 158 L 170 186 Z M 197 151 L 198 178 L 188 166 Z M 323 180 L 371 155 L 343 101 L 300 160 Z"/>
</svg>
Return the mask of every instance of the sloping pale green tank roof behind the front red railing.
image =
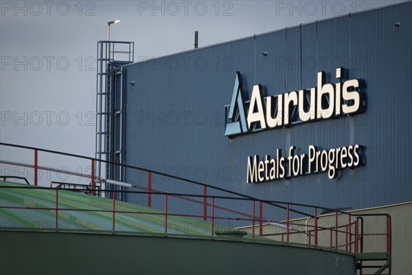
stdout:
<svg viewBox="0 0 412 275">
<path fill-rule="evenodd" d="M 6 188 L 7 186 L 19 188 Z M 0 208 L 1 228 L 54 231 L 56 225 L 56 189 L 27 188 L 27 186 L 0 181 L 0 206 L 15 207 Z M 112 199 L 59 189 L 58 231 L 113 232 L 112 210 Z M 130 234 L 165 233 L 164 210 L 118 200 L 115 201 L 115 210 L 121 211 L 115 213 L 115 232 Z M 214 232 L 231 230 L 231 228 L 226 228 L 218 223 L 219 221 L 215 220 Z M 168 234 L 211 236 L 211 228 L 211 222 L 209 221 L 168 213 Z M 243 238 L 251 239 L 252 236 L 246 234 Z"/>
</svg>

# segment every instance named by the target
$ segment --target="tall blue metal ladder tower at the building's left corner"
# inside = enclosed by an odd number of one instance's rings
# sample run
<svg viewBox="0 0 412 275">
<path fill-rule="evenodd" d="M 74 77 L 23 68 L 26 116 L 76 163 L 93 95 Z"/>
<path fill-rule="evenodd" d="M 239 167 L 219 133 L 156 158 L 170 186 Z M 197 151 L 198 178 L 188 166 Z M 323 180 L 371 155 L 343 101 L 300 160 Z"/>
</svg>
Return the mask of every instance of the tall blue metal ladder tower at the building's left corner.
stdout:
<svg viewBox="0 0 412 275">
<path fill-rule="evenodd" d="M 96 78 L 96 135 L 95 158 L 124 164 L 124 143 L 117 146 L 117 134 L 123 139 L 124 89 L 122 65 L 133 63 L 135 43 L 126 41 L 98 41 Z M 121 84 L 116 85 L 118 82 Z M 120 101 L 120 104 L 117 104 Z M 120 120 L 118 120 L 118 118 Z M 118 132 L 118 133 L 117 133 Z M 113 135 L 111 135 L 113 133 Z M 95 175 L 101 178 L 116 176 L 114 167 L 97 162 Z M 103 174 L 102 174 L 103 173 Z M 116 180 L 122 180 L 119 173 Z M 100 183 L 101 184 L 101 183 Z M 105 195 L 105 194 L 103 194 Z"/>
</svg>

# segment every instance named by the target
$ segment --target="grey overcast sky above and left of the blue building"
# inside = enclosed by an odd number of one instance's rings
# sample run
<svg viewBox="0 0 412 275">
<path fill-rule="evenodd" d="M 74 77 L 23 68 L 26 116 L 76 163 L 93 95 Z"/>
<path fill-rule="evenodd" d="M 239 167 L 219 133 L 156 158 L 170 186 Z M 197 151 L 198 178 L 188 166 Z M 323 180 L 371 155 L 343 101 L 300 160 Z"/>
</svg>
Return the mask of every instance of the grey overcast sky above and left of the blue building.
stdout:
<svg viewBox="0 0 412 275">
<path fill-rule="evenodd" d="M 135 42 L 139 61 L 192 49 L 195 30 L 205 47 L 396 2 L 1 1 L 0 140 L 94 157 L 96 42 L 107 21 L 122 20 L 111 40 Z M 32 164 L 32 153 L 0 150 Z M 66 162 L 43 154 L 39 165 Z"/>
</svg>

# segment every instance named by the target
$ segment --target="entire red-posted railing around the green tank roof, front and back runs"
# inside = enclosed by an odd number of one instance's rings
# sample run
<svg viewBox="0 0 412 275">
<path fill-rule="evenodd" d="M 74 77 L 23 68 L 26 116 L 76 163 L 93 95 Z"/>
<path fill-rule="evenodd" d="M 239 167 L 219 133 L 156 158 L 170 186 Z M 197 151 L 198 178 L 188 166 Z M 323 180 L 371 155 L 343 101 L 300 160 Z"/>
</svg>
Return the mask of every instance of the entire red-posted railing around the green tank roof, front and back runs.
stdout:
<svg viewBox="0 0 412 275">
<path fill-rule="evenodd" d="M 99 177 L 95 176 L 94 169 L 93 167 L 95 166 L 96 161 L 102 161 L 100 159 L 94 159 L 91 157 L 84 157 L 84 156 L 79 156 L 79 155 L 73 155 L 73 154 L 68 154 L 68 153 L 61 153 L 61 152 L 56 152 L 56 151 L 49 151 L 49 150 L 44 150 L 40 148 L 32 148 L 32 147 L 27 147 L 27 146 L 17 146 L 14 144 L 3 144 L 0 143 L 0 145 L 3 146 L 12 146 L 12 147 L 19 147 L 19 148 L 27 148 L 34 150 L 34 185 L 38 185 L 38 169 L 50 169 L 47 167 L 41 167 L 38 166 L 38 152 L 39 151 L 44 151 L 47 153 L 56 153 L 60 155 L 67 155 L 70 157 L 80 157 L 82 159 L 89 159 L 91 161 L 91 175 L 83 175 L 81 173 L 73 173 L 67 170 L 58 170 L 59 173 L 67 173 L 69 175 L 82 175 L 84 177 L 88 177 L 91 179 L 91 195 L 95 194 L 95 191 L 98 190 L 96 188 L 95 183 L 96 181 L 102 181 Z M 1 160 L 1 163 L 5 164 L 12 164 L 12 165 L 21 165 L 21 166 L 26 166 L 29 167 L 29 164 L 18 164 L 16 162 L 6 162 Z M 105 162 L 106 164 L 111 164 L 111 165 L 119 165 L 119 164 L 114 164 L 111 162 Z M 193 181 L 191 179 L 183 179 L 181 177 L 176 177 L 172 175 L 167 175 L 165 173 L 159 173 L 157 171 L 153 170 L 148 170 L 146 168 L 138 168 L 134 166 L 126 166 L 128 168 L 133 168 L 137 170 L 143 170 L 148 173 L 148 187 L 144 186 L 134 186 L 135 188 L 141 188 L 144 189 L 145 191 L 133 191 L 133 190 L 114 190 L 114 189 L 106 189 L 102 190 L 100 188 L 100 192 L 105 192 L 111 194 L 111 199 L 112 199 L 112 209 L 111 210 L 102 210 L 102 209 L 77 209 L 77 208 L 61 208 L 59 207 L 58 203 L 58 192 L 59 189 L 58 187 L 56 188 L 45 188 L 45 189 L 55 189 L 56 191 L 56 206 L 55 208 L 34 208 L 34 207 L 17 207 L 17 206 L 0 206 L 0 208 L 15 208 L 15 209 L 36 209 L 36 210 L 52 210 L 55 212 L 55 230 L 58 230 L 58 212 L 59 211 L 91 211 L 91 212 L 111 212 L 112 213 L 112 232 L 115 232 L 115 215 L 117 213 L 128 213 L 128 214 L 153 214 L 153 215 L 164 215 L 164 234 L 168 234 L 168 217 L 170 216 L 180 216 L 180 217 L 191 217 L 191 218 L 197 218 L 197 219 L 203 219 L 207 220 L 210 219 L 211 222 L 211 237 L 214 237 L 214 228 L 216 225 L 217 220 L 229 220 L 229 221 L 243 221 L 244 223 L 249 223 L 251 224 L 251 234 L 252 238 L 255 239 L 255 227 L 256 227 L 256 221 L 258 221 L 258 227 L 259 227 L 259 236 L 271 236 L 274 238 L 279 237 L 281 241 L 284 241 L 284 236 L 286 235 L 286 242 L 290 242 L 291 237 L 297 236 L 297 234 L 304 236 L 304 240 L 308 241 L 309 245 L 312 245 L 312 239 L 314 241 L 315 246 L 320 246 L 319 245 L 319 232 L 329 232 L 327 238 L 321 239 L 322 247 L 328 247 L 328 248 L 334 248 L 334 249 L 343 249 L 345 248 L 346 251 L 349 252 L 363 252 L 363 239 L 365 236 L 386 236 L 386 246 L 387 246 L 387 252 L 391 253 L 391 218 L 388 214 L 365 214 L 362 216 L 356 215 L 356 214 L 350 214 L 347 212 L 341 212 L 338 210 L 332 210 L 328 208 L 320 208 L 322 210 L 330 210 L 334 214 L 328 214 L 328 215 L 320 215 L 318 214 L 318 209 L 319 207 L 317 206 L 310 206 L 302 203 L 286 203 L 283 201 L 268 201 L 268 200 L 260 200 L 256 199 L 253 197 L 248 197 L 246 195 L 238 194 L 236 192 L 232 192 L 229 190 L 224 190 L 222 188 L 217 188 L 216 186 L 210 186 L 207 184 L 200 183 L 198 181 Z M 56 169 L 52 169 L 56 170 Z M 162 190 L 156 190 L 152 188 L 152 173 L 156 173 L 157 175 L 163 175 L 166 177 L 174 178 L 174 179 L 180 179 L 192 184 L 198 184 L 203 186 L 203 193 L 201 195 L 196 195 L 196 194 L 181 194 L 181 193 L 172 193 L 172 192 L 165 192 Z M 3 175 L 3 180 L 5 180 L 7 177 L 12 177 L 11 175 Z M 23 188 L 23 187 L 16 187 L 16 186 L 1 186 L 1 188 Z M 24 188 L 44 188 L 44 187 L 24 187 Z M 222 192 L 227 192 L 230 195 L 236 195 L 237 197 L 228 197 L 228 196 L 212 196 L 212 195 L 207 195 L 208 194 L 208 188 L 214 188 L 216 190 L 220 190 Z M 141 194 L 141 195 L 146 195 L 148 198 L 148 206 L 152 206 L 152 196 L 157 195 L 157 196 L 163 196 L 164 197 L 164 212 L 137 212 L 137 211 L 119 211 L 115 209 L 115 198 L 117 193 L 134 193 L 134 194 Z M 169 197 L 177 197 L 179 199 L 184 199 L 187 201 L 192 201 L 194 203 L 202 203 L 203 204 L 203 209 L 201 214 L 178 214 L 178 213 L 171 213 L 168 210 L 168 198 Z M 208 199 L 211 199 L 211 203 L 208 202 Z M 252 202 L 251 206 L 251 214 L 247 212 L 242 212 L 240 210 L 233 210 L 231 208 L 227 208 L 225 206 L 218 206 L 216 205 L 216 199 L 225 199 L 225 200 L 242 200 L 242 201 L 250 201 Z M 255 213 L 255 203 L 259 202 L 259 213 L 258 217 L 256 217 Z M 273 208 L 280 208 L 284 209 L 286 213 L 284 213 L 283 217 L 286 217 L 286 220 L 274 220 L 274 219 L 264 219 L 263 215 L 263 205 L 270 206 Z M 305 208 L 305 209 L 312 209 L 313 215 L 312 214 L 307 214 L 301 211 L 298 211 L 296 209 L 291 208 Z M 208 207 L 211 208 L 210 210 L 210 215 L 207 214 Z M 237 217 L 222 217 L 222 216 L 216 216 L 215 210 L 220 209 L 220 210 L 225 210 L 229 212 L 230 214 L 236 214 Z M 290 212 L 294 212 L 295 214 L 300 214 L 301 217 L 308 217 L 305 218 L 306 223 L 299 223 L 297 222 L 298 219 L 290 219 Z M 342 218 L 340 219 L 340 216 Z M 386 217 L 386 228 L 385 232 L 382 233 L 374 233 L 374 234 L 369 234 L 367 232 L 363 231 L 363 217 L 367 216 L 383 216 Z M 323 217 L 334 217 L 334 224 L 331 226 L 325 227 L 325 226 L 319 226 L 318 221 L 319 219 L 323 219 Z M 352 218 L 354 218 L 354 221 L 352 221 Z M 314 225 L 310 225 L 307 223 L 308 219 L 314 219 Z M 302 218 L 300 219 L 302 221 Z M 339 222 L 341 225 L 339 225 Z M 264 225 L 264 223 L 266 223 Z M 264 227 L 266 226 L 269 228 L 272 225 L 277 229 L 277 232 L 275 233 L 270 233 L 270 234 L 264 234 Z M 279 229 L 280 228 L 280 229 Z M 308 230 L 310 228 L 310 230 Z M 249 228 L 248 228 L 249 229 Z M 299 237 L 298 235 L 298 237 Z M 334 240 L 333 240 L 334 236 Z M 299 241 L 299 238 L 295 238 Z M 326 245 L 325 239 L 328 239 L 329 245 Z M 343 241 L 344 239 L 344 241 Z M 334 241 L 334 242 L 333 242 Z M 302 242 L 301 242 L 302 243 Z M 353 251 L 352 251 L 353 248 Z"/>
</svg>

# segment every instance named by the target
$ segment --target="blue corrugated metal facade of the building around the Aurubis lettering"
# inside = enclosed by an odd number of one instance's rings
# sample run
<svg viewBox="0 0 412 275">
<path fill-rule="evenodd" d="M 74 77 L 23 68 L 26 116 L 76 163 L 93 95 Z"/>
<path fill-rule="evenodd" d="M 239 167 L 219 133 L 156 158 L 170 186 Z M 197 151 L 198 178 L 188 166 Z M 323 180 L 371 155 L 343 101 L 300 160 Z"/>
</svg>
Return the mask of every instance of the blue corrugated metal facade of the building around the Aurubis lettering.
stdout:
<svg viewBox="0 0 412 275">
<path fill-rule="evenodd" d="M 126 164 L 260 199 L 329 208 L 411 201 L 410 14 L 412 3 L 402 3 L 126 66 L 126 83 L 135 81 L 126 91 Z M 401 27 L 394 28 L 395 22 L 401 22 Z M 346 78 L 363 79 L 365 113 L 233 140 L 225 137 L 224 106 L 231 102 L 236 71 L 242 73 L 250 98 L 258 83 L 271 95 L 315 87 L 319 71 L 325 71 L 333 83 L 336 67 L 345 67 Z M 298 153 L 308 153 L 310 144 L 324 149 L 362 144 L 366 165 L 342 170 L 334 180 L 320 173 L 246 184 L 248 155 L 275 155 L 282 148 L 285 156 L 290 145 L 297 146 Z M 202 191 L 199 186 L 159 178 L 153 188 Z M 147 185 L 146 176 L 132 171 L 126 172 L 126 181 Z M 144 201 L 137 197 L 128 199 Z M 244 203 L 229 202 L 229 206 L 251 212 Z M 186 207 L 172 203 L 175 210 Z"/>
</svg>

